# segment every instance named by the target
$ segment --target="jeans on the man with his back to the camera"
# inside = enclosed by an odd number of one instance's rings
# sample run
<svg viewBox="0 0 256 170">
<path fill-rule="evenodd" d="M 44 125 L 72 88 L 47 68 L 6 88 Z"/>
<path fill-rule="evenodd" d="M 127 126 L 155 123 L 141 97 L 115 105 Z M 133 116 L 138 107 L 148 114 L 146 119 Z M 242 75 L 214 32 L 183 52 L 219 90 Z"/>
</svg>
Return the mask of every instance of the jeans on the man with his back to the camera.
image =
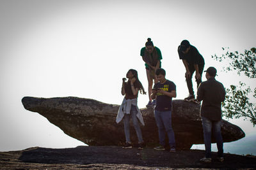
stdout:
<svg viewBox="0 0 256 170">
<path fill-rule="evenodd" d="M 218 148 L 218 157 L 223 157 L 223 139 L 221 136 L 221 120 L 213 121 L 209 118 L 202 117 L 204 129 L 205 158 L 211 158 L 211 135 L 212 131 L 216 139 Z"/>
</svg>

